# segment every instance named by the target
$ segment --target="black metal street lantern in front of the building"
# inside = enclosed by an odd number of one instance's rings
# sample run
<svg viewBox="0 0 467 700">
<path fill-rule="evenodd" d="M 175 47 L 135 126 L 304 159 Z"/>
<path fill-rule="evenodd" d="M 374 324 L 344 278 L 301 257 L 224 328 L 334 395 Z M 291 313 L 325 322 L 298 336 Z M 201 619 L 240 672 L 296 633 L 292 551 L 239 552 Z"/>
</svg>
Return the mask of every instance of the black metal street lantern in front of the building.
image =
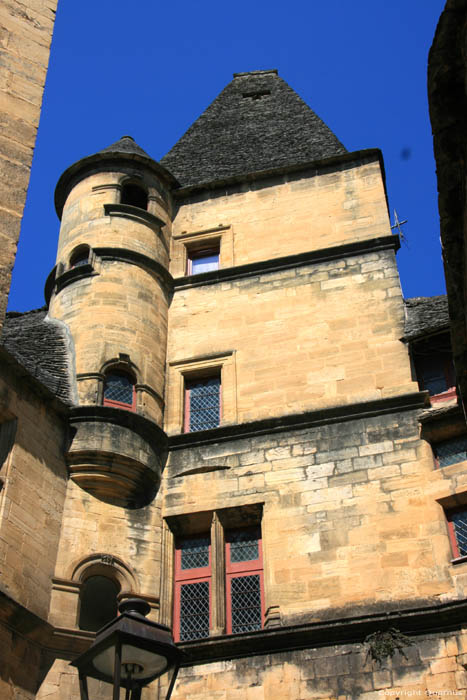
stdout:
<svg viewBox="0 0 467 700">
<path fill-rule="evenodd" d="M 113 700 L 125 688 L 125 700 L 140 700 L 141 689 L 156 678 L 172 673 L 169 700 L 182 652 L 175 646 L 169 627 L 146 619 L 150 606 L 139 598 L 119 605 L 120 615 L 96 633 L 89 649 L 72 662 L 79 673 L 81 700 L 90 700 L 87 679 L 113 684 Z"/>
</svg>

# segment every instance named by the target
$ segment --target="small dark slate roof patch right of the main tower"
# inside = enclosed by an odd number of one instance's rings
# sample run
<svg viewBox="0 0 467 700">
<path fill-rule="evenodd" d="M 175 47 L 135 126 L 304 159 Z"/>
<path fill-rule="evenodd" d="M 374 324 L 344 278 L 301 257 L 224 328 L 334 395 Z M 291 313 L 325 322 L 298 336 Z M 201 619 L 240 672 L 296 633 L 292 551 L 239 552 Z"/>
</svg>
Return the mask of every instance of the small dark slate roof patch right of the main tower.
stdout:
<svg viewBox="0 0 467 700">
<path fill-rule="evenodd" d="M 411 341 L 449 328 L 448 298 L 412 297 L 405 299 L 404 339 Z"/>
</svg>

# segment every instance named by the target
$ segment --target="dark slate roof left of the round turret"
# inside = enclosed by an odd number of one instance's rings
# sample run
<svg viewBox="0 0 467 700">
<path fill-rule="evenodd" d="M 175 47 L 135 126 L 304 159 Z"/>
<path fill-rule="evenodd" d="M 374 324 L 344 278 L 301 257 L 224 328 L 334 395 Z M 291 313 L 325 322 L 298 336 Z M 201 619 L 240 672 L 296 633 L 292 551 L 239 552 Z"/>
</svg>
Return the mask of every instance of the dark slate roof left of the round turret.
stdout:
<svg viewBox="0 0 467 700">
<path fill-rule="evenodd" d="M 1 344 L 33 377 L 65 403 L 71 403 L 68 337 L 63 326 L 46 319 L 47 309 L 9 312 Z"/>
</svg>

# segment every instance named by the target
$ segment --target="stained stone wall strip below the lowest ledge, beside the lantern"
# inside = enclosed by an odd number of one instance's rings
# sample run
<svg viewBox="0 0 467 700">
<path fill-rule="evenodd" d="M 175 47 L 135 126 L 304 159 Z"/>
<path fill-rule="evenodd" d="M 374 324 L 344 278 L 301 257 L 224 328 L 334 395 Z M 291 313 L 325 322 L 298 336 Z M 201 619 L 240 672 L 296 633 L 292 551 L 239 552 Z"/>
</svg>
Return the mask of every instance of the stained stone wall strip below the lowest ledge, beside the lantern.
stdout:
<svg viewBox="0 0 467 700">
<path fill-rule="evenodd" d="M 413 637 L 381 664 L 364 644 L 324 646 L 182 669 L 174 700 L 465 698 L 466 631 Z"/>
</svg>

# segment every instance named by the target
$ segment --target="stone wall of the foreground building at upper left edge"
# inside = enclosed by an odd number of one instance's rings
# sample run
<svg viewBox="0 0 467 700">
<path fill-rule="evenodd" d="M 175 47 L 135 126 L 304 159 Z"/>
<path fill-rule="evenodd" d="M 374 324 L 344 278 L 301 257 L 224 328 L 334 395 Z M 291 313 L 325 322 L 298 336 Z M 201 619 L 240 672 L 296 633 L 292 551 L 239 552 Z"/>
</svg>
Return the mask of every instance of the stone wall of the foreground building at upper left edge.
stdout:
<svg viewBox="0 0 467 700">
<path fill-rule="evenodd" d="M 42 103 L 57 0 L 0 8 L 0 326 L 10 289 Z"/>
</svg>

